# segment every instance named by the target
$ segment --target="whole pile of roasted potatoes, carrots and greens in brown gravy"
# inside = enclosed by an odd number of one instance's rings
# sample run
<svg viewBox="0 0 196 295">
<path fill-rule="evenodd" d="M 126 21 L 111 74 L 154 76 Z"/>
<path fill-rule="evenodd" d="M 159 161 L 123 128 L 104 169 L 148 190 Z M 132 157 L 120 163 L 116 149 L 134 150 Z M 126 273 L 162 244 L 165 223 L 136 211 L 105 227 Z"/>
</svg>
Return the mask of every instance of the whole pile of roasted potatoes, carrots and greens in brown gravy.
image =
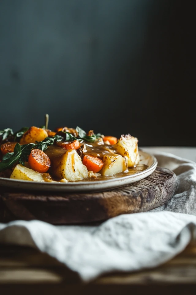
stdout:
<svg viewBox="0 0 196 295">
<path fill-rule="evenodd" d="M 0 130 L 0 177 L 47 182 L 77 181 L 127 171 L 139 163 L 138 139 L 47 126 Z"/>
</svg>

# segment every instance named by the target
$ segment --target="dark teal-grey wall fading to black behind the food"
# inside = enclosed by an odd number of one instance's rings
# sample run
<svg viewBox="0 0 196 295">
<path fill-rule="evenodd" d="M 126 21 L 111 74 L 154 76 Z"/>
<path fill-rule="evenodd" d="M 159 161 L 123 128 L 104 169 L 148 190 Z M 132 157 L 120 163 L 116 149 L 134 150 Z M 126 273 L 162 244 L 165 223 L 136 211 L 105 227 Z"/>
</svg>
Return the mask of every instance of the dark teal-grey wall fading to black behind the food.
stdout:
<svg viewBox="0 0 196 295">
<path fill-rule="evenodd" d="M 0 129 L 196 146 L 194 1 L 1 0 Z"/>
</svg>

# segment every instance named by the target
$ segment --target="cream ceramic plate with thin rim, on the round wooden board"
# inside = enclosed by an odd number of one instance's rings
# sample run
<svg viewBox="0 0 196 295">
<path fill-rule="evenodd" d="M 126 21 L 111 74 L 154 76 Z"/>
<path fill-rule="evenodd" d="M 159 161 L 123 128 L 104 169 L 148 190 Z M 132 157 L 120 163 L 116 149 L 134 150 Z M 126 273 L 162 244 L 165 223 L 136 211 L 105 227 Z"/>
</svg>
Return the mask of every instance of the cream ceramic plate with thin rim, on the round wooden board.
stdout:
<svg viewBox="0 0 196 295">
<path fill-rule="evenodd" d="M 68 183 L 33 182 L 0 177 L 0 186 L 18 189 L 52 192 L 77 192 L 77 191 L 104 191 L 121 187 L 149 176 L 156 169 L 157 160 L 153 155 L 139 150 L 140 164 L 129 172 L 122 172 L 112 176 L 95 179 L 82 179 Z"/>
</svg>

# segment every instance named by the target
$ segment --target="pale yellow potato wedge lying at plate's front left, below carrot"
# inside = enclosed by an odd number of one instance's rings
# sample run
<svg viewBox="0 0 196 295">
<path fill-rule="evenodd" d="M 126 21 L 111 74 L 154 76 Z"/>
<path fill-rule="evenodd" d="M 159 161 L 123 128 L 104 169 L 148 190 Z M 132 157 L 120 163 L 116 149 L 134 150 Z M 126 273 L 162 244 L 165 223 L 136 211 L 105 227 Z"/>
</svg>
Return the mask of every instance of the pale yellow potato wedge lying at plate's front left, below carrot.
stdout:
<svg viewBox="0 0 196 295">
<path fill-rule="evenodd" d="M 44 181 L 41 173 L 36 172 L 25 166 L 22 166 L 21 164 L 16 165 L 12 174 L 10 175 L 10 178 L 41 182 Z"/>
</svg>

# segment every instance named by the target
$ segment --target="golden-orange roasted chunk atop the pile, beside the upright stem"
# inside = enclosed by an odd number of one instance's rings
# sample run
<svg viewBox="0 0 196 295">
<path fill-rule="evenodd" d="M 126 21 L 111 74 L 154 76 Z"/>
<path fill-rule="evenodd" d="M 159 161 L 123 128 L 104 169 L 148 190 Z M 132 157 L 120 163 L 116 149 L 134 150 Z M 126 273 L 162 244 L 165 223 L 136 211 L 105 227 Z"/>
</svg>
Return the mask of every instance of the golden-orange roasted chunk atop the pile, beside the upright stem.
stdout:
<svg viewBox="0 0 196 295">
<path fill-rule="evenodd" d="M 20 144 L 36 144 L 36 141 L 42 141 L 48 136 L 45 129 L 32 126 L 22 136 Z"/>
</svg>

